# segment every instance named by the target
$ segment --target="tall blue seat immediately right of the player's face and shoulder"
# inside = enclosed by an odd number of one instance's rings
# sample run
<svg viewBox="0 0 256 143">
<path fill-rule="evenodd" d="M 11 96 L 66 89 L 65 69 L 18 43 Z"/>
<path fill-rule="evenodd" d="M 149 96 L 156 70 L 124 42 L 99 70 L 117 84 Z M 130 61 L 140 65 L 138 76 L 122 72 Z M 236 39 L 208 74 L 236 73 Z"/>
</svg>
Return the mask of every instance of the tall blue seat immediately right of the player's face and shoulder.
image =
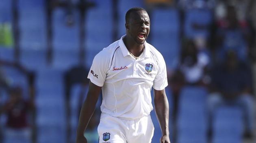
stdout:
<svg viewBox="0 0 256 143">
<path fill-rule="evenodd" d="M 163 20 L 165 20 L 165 23 L 162 22 Z M 179 25 L 176 9 L 156 9 L 152 11 L 151 42 L 163 55 L 167 69 L 175 69 L 179 60 Z"/>
</svg>

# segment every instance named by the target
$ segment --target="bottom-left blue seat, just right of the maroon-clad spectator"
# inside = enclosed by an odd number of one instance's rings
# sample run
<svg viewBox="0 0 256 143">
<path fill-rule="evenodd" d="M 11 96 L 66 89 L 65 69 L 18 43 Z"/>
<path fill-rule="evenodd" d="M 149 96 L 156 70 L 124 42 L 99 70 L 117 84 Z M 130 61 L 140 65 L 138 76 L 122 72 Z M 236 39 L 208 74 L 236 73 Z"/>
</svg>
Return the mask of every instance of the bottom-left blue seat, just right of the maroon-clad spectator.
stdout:
<svg viewBox="0 0 256 143">
<path fill-rule="evenodd" d="M 35 81 L 37 96 L 36 123 L 38 143 L 59 143 L 66 140 L 66 114 L 63 71 L 41 69 Z"/>
</svg>

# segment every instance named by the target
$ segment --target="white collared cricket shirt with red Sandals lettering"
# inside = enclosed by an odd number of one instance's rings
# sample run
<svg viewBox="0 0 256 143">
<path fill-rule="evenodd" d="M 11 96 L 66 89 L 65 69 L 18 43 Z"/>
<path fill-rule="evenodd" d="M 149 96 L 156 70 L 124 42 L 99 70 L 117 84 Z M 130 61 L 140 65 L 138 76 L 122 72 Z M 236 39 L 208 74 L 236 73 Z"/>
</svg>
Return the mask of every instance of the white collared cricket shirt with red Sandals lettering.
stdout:
<svg viewBox="0 0 256 143">
<path fill-rule="evenodd" d="M 152 111 L 151 88 L 163 90 L 167 71 L 161 53 L 144 42 L 143 55 L 135 59 L 120 40 L 98 53 L 87 78 L 102 86 L 101 111 L 111 116 L 134 120 Z"/>
</svg>

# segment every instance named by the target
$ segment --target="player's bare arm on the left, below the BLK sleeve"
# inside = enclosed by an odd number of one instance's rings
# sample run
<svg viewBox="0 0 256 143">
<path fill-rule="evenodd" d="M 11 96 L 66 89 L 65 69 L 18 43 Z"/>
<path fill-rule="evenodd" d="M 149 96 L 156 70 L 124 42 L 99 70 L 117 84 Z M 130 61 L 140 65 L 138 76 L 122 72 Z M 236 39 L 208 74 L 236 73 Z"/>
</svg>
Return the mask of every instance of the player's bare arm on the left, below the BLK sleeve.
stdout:
<svg viewBox="0 0 256 143">
<path fill-rule="evenodd" d="M 100 91 L 100 86 L 93 84 L 91 81 L 89 82 L 89 91 L 80 111 L 78 128 L 76 131 L 76 143 L 87 143 L 84 137 L 84 131 L 93 115 Z"/>
</svg>

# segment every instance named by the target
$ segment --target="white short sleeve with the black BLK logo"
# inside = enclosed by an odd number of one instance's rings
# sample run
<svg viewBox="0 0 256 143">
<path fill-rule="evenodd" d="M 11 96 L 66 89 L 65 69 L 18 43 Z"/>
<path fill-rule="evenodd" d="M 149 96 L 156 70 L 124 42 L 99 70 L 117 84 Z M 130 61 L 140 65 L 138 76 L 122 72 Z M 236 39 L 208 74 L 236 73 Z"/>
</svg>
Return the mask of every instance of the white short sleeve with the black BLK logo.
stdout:
<svg viewBox="0 0 256 143">
<path fill-rule="evenodd" d="M 93 84 L 102 87 L 106 79 L 107 70 L 108 60 L 106 60 L 101 51 L 94 57 L 87 78 L 89 78 Z"/>
</svg>

